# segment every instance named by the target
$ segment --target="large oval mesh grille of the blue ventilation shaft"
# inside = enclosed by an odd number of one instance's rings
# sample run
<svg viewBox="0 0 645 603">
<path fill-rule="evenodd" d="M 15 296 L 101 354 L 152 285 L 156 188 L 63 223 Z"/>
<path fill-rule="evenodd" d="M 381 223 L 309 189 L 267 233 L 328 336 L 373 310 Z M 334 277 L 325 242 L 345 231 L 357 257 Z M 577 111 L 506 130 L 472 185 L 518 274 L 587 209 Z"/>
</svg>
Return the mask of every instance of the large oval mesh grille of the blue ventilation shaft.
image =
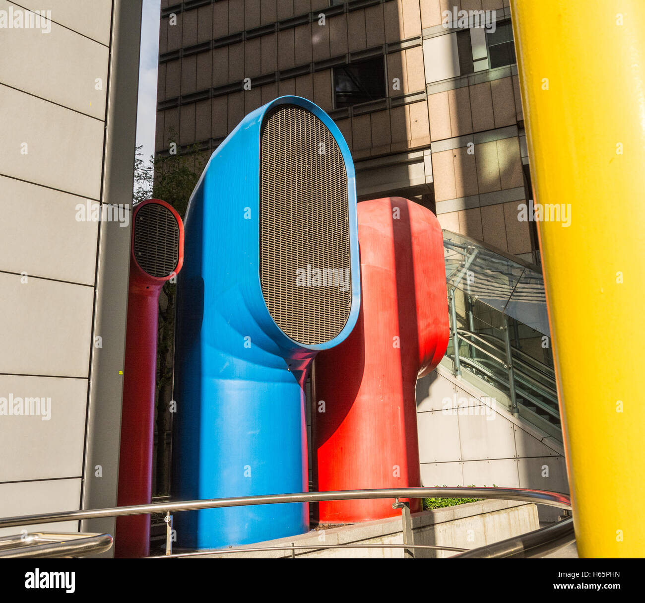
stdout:
<svg viewBox="0 0 645 603">
<path fill-rule="evenodd" d="M 347 172 L 332 133 L 311 112 L 281 105 L 260 145 L 260 280 L 281 330 L 321 344 L 352 304 Z"/>
</svg>

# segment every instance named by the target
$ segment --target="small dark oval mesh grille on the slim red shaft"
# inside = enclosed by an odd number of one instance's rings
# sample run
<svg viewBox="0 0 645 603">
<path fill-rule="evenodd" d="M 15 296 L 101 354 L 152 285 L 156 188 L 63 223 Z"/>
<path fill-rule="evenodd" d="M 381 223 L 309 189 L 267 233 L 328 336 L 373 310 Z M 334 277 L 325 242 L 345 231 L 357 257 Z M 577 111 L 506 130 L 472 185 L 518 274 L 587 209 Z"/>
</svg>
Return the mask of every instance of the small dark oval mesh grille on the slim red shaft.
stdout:
<svg viewBox="0 0 645 603">
<path fill-rule="evenodd" d="M 179 259 L 179 225 L 168 208 L 148 203 L 137 212 L 134 257 L 141 269 L 153 277 L 164 278 L 175 270 Z"/>
</svg>

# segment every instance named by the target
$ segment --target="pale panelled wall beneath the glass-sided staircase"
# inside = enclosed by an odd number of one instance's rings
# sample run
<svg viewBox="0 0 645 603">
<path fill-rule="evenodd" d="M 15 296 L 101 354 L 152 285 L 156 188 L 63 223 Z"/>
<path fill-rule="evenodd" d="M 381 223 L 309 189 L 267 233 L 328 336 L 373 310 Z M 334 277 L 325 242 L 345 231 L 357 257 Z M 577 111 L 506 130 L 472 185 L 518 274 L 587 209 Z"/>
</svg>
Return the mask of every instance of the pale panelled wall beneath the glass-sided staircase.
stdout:
<svg viewBox="0 0 645 603">
<path fill-rule="evenodd" d="M 499 486 L 568 493 L 562 444 L 513 417 L 443 365 L 417 381 L 422 486 Z M 561 509 L 538 506 L 542 521 Z"/>
</svg>

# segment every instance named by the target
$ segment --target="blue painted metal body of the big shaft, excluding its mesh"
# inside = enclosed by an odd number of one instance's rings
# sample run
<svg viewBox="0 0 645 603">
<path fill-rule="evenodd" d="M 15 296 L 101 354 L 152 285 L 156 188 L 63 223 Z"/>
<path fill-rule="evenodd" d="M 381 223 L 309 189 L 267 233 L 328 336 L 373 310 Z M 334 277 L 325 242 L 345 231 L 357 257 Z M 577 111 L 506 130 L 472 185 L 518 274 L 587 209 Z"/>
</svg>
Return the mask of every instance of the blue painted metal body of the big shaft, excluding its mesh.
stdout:
<svg viewBox="0 0 645 603">
<path fill-rule="evenodd" d="M 259 277 L 260 129 L 277 104 L 315 114 L 335 137 L 347 170 L 352 308 L 332 341 L 303 345 L 275 324 Z M 285 96 L 246 115 L 215 150 L 184 219 L 177 282 L 175 499 L 308 490 L 304 382 L 313 357 L 352 331 L 360 275 L 352 155 L 332 119 Z M 307 504 L 207 509 L 175 517 L 177 544 L 216 548 L 308 531 Z"/>
</svg>

